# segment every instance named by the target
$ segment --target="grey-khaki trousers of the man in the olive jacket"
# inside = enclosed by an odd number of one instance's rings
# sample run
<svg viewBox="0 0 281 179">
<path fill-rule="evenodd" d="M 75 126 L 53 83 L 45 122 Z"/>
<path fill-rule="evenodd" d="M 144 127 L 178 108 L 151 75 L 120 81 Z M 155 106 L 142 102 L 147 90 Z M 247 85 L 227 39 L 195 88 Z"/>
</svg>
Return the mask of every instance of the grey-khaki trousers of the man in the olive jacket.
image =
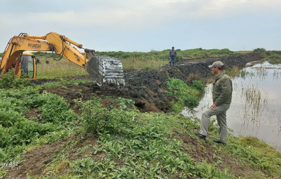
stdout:
<svg viewBox="0 0 281 179">
<path fill-rule="evenodd" d="M 226 143 L 227 126 L 226 126 L 226 111 L 230 104 L 221 104 L 216 109 L 206 109 L 202 113 L 200 134 L 207 135 L 211 116 L 217 116 L 217 124 L 219 124 L 219 141 Z"/>
</svg>

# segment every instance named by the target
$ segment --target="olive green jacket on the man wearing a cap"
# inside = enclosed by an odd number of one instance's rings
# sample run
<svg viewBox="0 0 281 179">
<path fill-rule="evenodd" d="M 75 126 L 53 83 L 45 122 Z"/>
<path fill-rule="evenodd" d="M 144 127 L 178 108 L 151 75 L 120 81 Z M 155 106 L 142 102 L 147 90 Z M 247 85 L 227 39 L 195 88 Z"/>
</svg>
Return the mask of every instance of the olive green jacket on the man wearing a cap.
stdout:
<svg viewBox="0 0 281 179">
<path fill-rule="evenodd" d="M 213 82 L 213 102 L 216 106 L 230 104 L 232 98 L 232 81 L 222 71 L 215 77 Z"/>
</svg>

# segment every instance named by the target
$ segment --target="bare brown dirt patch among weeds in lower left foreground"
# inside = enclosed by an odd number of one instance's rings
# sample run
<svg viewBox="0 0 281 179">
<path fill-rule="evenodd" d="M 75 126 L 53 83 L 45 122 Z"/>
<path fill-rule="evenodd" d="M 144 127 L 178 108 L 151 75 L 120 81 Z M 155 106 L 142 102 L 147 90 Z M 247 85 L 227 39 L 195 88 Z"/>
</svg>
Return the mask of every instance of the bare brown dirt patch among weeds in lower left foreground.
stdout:
<svg viewBox="0 0 281 179">
<path fill-rule="evenodd" d="M 44 169 L 52 163 L 52 159 L 58 151 L 60 151 L 60 154 L 57 155 L 67 154 L 69 160 L 77 160 L 78 158 L 83 158 L 84 155 L 91 156 L 91 158 L 95 161 L 101 160 L 101 155 L 103 153 L 99 152 L 93 155 L 92 153 L 95 151 L 93 147 L 89 147 L 89 149 L 83 154 L 79 153 L 79 149 L 82 147 L 89 145 L 94 146 L 97 138 L 85 137 L 79 141 L 75 147 L 67 147 L 67 149 L 65 149 L 65 146 L 67 146 L 66 144 L 75 140 L 77 140 L 76 137 L 72 136 L 26 152 L 23 162 L 21 162 L 21 164 L 17 167 L 10 168 L 5 177 L 11 179 L 26 179 L 26 173 L 31 175 L 40 175 L 44 173 Z M 68 164 L 65 164 L 65 167 L 68 167 L 67 165 Z"/>
</svg>

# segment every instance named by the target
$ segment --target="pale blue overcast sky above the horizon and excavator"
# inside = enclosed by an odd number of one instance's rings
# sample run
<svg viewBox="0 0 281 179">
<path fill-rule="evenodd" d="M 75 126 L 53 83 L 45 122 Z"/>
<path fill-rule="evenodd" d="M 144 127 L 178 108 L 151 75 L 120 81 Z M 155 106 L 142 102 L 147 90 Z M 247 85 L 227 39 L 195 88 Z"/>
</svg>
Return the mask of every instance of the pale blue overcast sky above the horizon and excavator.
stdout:
<svg viewBox="0 0 281 179">
<path fill-rule="evenodd" d="M 281 0 L 0 0 L 0 52 L 21 32 L 98 51 L 281 50 Z"/>
</svg>

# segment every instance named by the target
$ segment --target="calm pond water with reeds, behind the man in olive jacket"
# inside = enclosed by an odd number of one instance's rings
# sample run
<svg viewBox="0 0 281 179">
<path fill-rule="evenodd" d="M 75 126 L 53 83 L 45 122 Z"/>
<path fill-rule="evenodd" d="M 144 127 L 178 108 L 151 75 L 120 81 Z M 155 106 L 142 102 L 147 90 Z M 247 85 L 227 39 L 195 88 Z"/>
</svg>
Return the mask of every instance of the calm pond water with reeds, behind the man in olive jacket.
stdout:
<svg viewBox="0 0 281 179">
<path fill-rule="evenodd" d="M 227 126 L 235 136 L 257 137 L 281 151 L 281 64 L 263 62 L 243 71 L 245 76 L 232 79 Z M 212 84 L 208 84 L 200 105 L 185 108 L 182 113 L 201 119 L 202 112 L 212 104 Z"/>
</svg>

